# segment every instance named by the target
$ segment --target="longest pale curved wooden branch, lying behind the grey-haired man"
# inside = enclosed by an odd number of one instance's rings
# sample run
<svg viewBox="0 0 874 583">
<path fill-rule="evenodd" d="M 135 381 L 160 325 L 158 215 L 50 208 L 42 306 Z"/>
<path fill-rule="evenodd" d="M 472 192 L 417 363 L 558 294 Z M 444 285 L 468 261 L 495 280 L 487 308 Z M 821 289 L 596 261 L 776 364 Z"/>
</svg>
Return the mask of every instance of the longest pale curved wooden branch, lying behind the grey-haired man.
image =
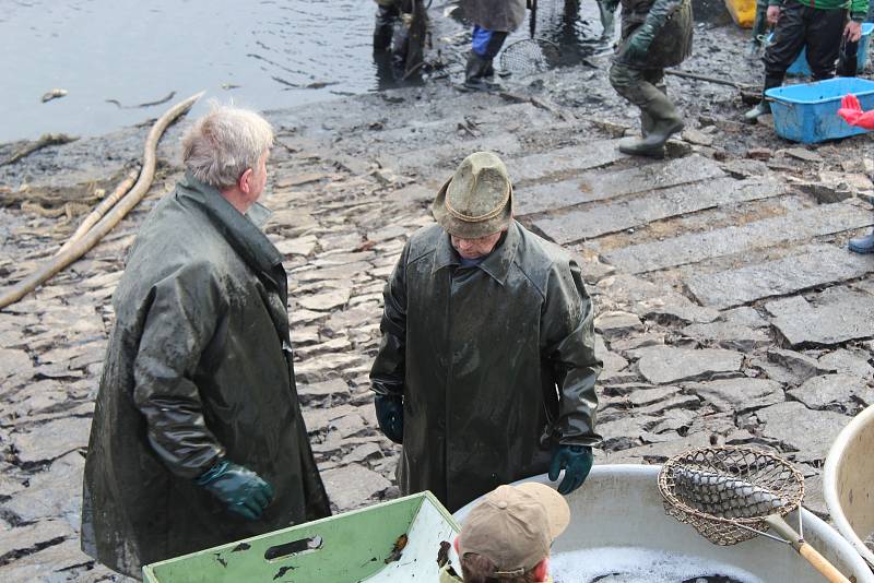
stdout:
<svg viewBox="0 0 874 583">
<path fill-rule="evenodd" d="M 164 134 L 167 127 L 173 123 L 176 118 L 191 109 L 191 106 L 203 95 L 205 92 L 200 92 L 192 95 L 188 99 L 180 102 L 168 109 L 161 116 L 152 130 L 149 132 L 149 138 L 145 140 L 145 147 L 143 148 L 143 169 L 140 172 L 140 178 L 137 183 L 101 221 L 87 231 L 87 234 L 72 245 L 69 249 L 52 257 L 48 262 L 43 264 L 33 274 L 28 275 L 17 284 L 11 286 L 2 295 L 0 295 L 0 309 L 19 301 L 21 298 L 36 289 L 42 284 L 46 283 L 54 275 L 66 269 L 68 265 L 80 259 L 82 255 L 91 251 L 107 233 L 122 219 L 125 216 L 139 204 L 139 202 L 149 192 L 152 186 L 152 179 L 155 176 L 155 151 L 157 148 L 158 140 Z"/>
</svg>

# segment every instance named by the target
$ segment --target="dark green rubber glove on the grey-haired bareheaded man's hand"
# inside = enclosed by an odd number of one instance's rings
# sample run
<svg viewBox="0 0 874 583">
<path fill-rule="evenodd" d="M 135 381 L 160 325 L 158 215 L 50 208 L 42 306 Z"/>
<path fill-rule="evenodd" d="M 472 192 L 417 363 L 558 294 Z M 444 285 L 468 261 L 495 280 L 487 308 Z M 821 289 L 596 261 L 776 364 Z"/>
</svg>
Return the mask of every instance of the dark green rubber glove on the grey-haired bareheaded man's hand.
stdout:
<svg viewBox="0 0 874 583">
<path fill-rule="evenodd" d="M 251 469 L 227 461 L 217 462 L 197 480 L 214 497 L 227 505 L 227 510 L 257 521 L 273 501 L 273 488 Z"/>
</svg>

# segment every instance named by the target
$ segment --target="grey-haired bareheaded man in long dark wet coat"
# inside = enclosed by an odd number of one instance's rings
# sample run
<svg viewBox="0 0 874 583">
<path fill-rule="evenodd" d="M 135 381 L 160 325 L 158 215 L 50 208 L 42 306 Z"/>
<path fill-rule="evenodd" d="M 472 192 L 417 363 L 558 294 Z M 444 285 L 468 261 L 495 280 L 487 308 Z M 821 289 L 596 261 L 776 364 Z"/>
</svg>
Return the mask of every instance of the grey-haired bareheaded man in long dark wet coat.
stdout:
<svg viewBox="0 0 874 583">
<path fill-rule="evenodd" d="M 300 415 L 282 253 L 257 201 L 273 142 L 216 107 L 182 141 L 113 298 L 91 428 L 82 548 L 144 564 L 328 516 Z"/>
</svg>

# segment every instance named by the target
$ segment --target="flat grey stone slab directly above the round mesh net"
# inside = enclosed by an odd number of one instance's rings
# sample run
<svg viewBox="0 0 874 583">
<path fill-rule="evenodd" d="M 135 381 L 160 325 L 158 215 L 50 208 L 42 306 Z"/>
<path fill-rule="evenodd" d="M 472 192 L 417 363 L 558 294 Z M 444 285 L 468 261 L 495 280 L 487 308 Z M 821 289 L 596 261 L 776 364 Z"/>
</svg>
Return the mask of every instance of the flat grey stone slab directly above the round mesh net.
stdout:
<svg viewBox="0 0 874 583">
<path fill-rule="evenodd" d="M 787 401 L 756 412 L 765 437 L 794 450 L 798 462 L 825 460 L 828 449 L 851 417 L 829 411 L 811 411 L 803 403 Z"/>
</svg>

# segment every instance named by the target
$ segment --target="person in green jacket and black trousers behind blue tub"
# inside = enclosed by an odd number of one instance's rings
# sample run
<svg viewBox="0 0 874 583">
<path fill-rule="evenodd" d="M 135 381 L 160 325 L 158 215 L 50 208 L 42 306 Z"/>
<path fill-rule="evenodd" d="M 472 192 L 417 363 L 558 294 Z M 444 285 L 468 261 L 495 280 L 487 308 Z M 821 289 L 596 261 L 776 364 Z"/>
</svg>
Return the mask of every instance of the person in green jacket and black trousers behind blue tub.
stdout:
<svg viewBox="0 0 874 583">
<path fill-rule="evenodd" d="M 841 39 L 857 43 L 869 0 L 768 0 L 768 23 L 775 25 L 771 44 L 765 50 L 765 84 L 761 102 L 744 114 L 755 123 L 770 114 L 765 92 L 783 84 L 787 70 L 801 49 L 807 49 L 807 64 L 814 81 L 835 76 Z M 849 21 L 848 21 L 849 15 Z"/>
</svg>

